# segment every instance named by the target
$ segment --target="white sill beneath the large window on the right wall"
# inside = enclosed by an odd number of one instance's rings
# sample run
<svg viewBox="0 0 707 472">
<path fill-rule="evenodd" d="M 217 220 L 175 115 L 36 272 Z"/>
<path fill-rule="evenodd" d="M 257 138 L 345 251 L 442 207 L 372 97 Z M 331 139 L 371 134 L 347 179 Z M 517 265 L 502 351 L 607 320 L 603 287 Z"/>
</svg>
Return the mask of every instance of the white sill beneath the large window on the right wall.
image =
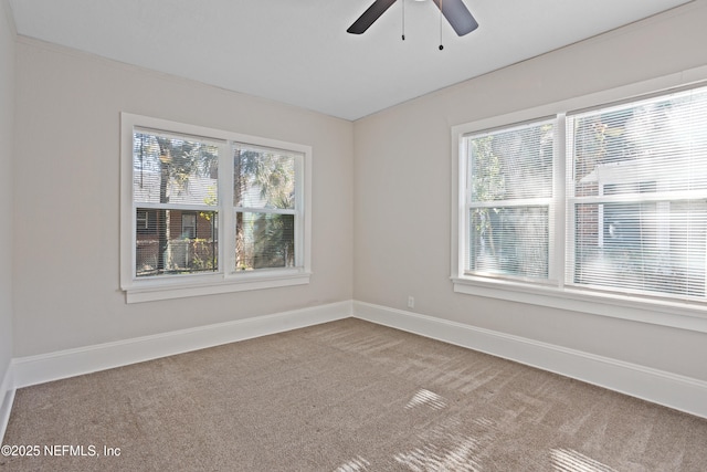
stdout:
<svg viewBox="0 0 707 472">
<path fill-rule="evenodd" d="M 707 333 L 707 305 L 527 283 L 452 277 L 454 292 Z"/>
</svg>

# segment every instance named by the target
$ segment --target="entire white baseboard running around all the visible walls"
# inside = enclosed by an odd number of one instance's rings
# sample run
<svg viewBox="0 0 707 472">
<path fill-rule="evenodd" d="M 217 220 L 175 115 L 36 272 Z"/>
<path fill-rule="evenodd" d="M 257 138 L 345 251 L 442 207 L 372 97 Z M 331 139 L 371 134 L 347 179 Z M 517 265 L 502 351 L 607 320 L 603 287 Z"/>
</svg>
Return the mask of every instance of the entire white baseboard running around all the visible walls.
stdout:
<svg viewBox="0 0 707 472">
<path fill-rule="evenodd" d="M 707 382 L 418 313 L 347 301 L 12 359 L 0 384 L 0 440 L 15 388 L 355 316 L 707 418 Z"/>
</svg>

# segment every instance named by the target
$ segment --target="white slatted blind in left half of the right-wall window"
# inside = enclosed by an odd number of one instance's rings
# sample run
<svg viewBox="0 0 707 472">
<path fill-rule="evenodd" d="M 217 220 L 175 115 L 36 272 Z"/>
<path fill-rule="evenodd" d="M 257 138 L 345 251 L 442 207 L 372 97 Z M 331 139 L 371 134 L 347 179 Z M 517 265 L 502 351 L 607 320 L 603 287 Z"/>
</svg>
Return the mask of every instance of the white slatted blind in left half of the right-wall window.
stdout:
<svg viewBox="0 0 707 472">
<path fill-rule="evenodd" d="M 548 279 L 555 123 L 466 137 L 466 273 Z"/>
</svg>

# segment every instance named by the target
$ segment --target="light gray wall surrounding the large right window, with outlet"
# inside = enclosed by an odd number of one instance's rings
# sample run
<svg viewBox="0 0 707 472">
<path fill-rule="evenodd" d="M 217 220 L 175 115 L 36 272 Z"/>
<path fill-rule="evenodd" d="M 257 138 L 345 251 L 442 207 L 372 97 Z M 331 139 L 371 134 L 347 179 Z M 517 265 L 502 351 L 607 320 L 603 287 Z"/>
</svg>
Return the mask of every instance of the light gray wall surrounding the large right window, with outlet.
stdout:
<svg viewBox="0 0 707 472">
<path fill-rule="evenodd" d="M 357 301 L 707 380 L 707 335 L 453 292 L 451 126 L 707 64 L 707 1 L 356 122 Z"/>
</svg>

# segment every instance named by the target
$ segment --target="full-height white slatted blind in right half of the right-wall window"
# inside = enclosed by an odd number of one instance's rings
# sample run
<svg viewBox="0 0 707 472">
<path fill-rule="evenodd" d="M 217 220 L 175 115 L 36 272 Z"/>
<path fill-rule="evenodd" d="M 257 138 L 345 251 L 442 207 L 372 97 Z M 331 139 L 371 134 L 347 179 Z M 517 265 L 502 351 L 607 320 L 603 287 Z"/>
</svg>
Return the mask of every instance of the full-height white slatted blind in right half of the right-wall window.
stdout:
<svg viewBox="0 0 707 472">
<path fill-rule="evenodd" d="M 566 283 L 705 296 L 707 90 L 568 117 Z"/>
</svg>

